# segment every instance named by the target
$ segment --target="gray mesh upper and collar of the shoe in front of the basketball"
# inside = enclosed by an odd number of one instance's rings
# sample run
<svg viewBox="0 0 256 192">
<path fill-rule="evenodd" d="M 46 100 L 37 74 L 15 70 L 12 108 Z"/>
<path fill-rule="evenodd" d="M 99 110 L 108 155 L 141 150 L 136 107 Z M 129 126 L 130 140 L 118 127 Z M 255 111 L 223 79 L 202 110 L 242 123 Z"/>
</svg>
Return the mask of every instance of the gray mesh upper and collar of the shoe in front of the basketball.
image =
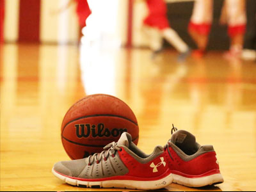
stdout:
<svg viewBox="0 0 256 192">
<path fill-rule="evenodd" d="M 83 179 L 100 179 L 117 175 L 125 175 L 129 172 L 128 168 L 120 159 L 118 148 L 122 147 L 125 152 L 140 163 L 148 163 L 163 153 L 163 147 L 157 146 L 152 154 L 147 155 L 142 152 L 134 143 L 131 135 L 124 132 L 117 143 L 109 143 L 100 154 L 86 157 L 84 159 L 60 161 L 54 164 L 54 170 L 70 177 Z M 113 156 L 111 156 L 114 154 Z"/>
</svg>

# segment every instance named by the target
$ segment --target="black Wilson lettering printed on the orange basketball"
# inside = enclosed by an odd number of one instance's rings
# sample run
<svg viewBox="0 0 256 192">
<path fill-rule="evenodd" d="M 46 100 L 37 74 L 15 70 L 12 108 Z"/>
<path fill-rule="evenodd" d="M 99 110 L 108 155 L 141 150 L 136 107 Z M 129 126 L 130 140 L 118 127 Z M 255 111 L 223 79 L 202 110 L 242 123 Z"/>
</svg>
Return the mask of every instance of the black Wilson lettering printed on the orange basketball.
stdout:
<svg viewBox="0 0 256 192">
<path fill-rule="evenodd" d="M 123 132 L 127 132 L 127 129 L 112 129 L 111 131 L 108 128 L 105 128 L 104 124 L 91 125 L 91 124 L 76 124 L 76 136 L 77 138 L 88 138 L 92 135 L 93 138 L 96 137 L 118 137 Z"/>
</svg>

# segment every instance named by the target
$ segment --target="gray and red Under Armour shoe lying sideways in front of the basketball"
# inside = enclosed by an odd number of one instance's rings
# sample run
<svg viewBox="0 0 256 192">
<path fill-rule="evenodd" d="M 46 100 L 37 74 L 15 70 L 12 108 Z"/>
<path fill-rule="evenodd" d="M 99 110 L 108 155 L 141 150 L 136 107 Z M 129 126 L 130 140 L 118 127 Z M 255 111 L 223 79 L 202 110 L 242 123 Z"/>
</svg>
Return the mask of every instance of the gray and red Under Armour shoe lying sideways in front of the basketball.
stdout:
<svg viewBox="0 0 256 192">
<path fill-rule="evenodd" d="M 100 154 L 84 159 L 60 161 L 52 173 L 73 186 L 87 188 L 161 189 L 172 183 L 163 147 L 146 155 L 122 133 L 117 143 L 109 143 Z"/>
</svg>

